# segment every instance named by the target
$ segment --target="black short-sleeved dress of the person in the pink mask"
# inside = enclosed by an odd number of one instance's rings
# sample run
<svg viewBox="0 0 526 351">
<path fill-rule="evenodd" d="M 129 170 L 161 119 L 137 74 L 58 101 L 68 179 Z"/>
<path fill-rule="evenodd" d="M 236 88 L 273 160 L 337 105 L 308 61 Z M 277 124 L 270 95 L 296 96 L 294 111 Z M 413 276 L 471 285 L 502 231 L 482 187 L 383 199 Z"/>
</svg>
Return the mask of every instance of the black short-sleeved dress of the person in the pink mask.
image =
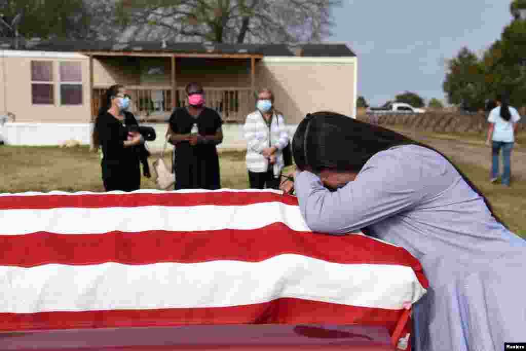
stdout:
<svg viewBox="0 0 526 351">
<path fill-rule="evenodd" d="M 213 109 L 205 107 L 199 116 L 190 115 L 186 108 L 174 110 L 168 122 L 176 134 L 188 134 L 197 123 L 199 134 L 214 135 L 221 127 L 221 117 Z M 215 144 L 190 145 L 188 141 L 177 143 L 175 162 L 175 189 L 221 188 L 219 176 L 219 157 Z"/>
</svg>

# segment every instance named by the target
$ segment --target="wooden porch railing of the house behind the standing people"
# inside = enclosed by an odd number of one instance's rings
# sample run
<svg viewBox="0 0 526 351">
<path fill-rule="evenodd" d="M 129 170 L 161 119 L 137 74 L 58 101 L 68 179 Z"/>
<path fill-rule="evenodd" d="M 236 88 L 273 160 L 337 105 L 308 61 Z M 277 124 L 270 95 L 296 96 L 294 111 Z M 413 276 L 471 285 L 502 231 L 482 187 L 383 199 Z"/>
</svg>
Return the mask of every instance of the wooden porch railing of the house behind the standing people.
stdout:
<svg viewBox="0 0 526 351">
<path fill-rule="evenodd" d="M 92 95 L 93 116 L 102 106 L 108 87 L 96 86 Z M 206 106 L 215 109 L 226 123 L 244 123 L 247 114 L 254 110 L 255 99 L 250 88 L 205 87 Z M 131 97 L 129 111 L 145 122 L 168 121 L 174 107 L 186 106 L 186 94 L 178 87 L 173 94 L 169 86 L 126 86 Z M 175 97 L 175 98 L 174 98 Z"/>
</svg>

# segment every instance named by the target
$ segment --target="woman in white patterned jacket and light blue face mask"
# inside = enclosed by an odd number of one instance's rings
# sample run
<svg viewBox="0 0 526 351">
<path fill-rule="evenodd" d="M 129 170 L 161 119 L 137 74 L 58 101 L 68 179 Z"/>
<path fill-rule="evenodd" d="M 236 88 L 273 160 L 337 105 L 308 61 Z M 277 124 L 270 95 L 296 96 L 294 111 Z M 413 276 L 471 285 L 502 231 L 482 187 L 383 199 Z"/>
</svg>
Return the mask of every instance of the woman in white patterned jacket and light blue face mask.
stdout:
<svg viewBox="0 0 526 351">
<path fill-rule="evenodd" d="M 284 167 L 282 150 L 289 143 L 289 135 L 283 115 L 274 107 L 274 94 L 269 89 L 259 92 L 256 106 L 256 111 L 247 116 L 243 127 L 250 187 L 277 189 Z"/>
</svg>

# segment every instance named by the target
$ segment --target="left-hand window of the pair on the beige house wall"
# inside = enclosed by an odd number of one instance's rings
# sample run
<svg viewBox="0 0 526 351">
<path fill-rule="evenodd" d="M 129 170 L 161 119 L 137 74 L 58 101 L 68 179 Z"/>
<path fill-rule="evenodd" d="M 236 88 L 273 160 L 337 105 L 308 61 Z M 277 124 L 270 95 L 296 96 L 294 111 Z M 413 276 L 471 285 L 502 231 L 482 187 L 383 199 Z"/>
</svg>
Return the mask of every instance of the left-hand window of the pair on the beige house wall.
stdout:
<svg viewBox="0 0 526 351">
<path fill-rule="evenodd" d="M 55 104 L 53 61 L 31 62 L 31 95 L 35 105 Z"/>
</svg>

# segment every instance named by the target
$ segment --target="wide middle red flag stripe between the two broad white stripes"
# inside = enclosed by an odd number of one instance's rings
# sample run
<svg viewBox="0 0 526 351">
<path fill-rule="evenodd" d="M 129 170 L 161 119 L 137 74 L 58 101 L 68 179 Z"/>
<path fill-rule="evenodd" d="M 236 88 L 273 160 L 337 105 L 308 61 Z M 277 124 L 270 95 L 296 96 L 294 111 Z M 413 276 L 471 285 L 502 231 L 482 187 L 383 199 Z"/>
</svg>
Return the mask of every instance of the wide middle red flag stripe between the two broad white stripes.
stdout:
<svg viewBox="0 0 526 351">
<path fill-rule="evenodd" d="M 51 263 L 93 265 L 106 262 L 145 265 L 213 260 L 261 262 L 281 254 L 297 254 L 340 264 L 408 266 L 413 268 L 424 288 L 428 283 L 418 260 L 401 247 L 362 235 L 295 232 L 282 223 L 251 230 L 205 232 L 152 230 L 139 233 L 68 235 L 38 232 L 2 235 L 0 247 L 3 250 L 0 266 L 34 267 Z"/>
</svg>

